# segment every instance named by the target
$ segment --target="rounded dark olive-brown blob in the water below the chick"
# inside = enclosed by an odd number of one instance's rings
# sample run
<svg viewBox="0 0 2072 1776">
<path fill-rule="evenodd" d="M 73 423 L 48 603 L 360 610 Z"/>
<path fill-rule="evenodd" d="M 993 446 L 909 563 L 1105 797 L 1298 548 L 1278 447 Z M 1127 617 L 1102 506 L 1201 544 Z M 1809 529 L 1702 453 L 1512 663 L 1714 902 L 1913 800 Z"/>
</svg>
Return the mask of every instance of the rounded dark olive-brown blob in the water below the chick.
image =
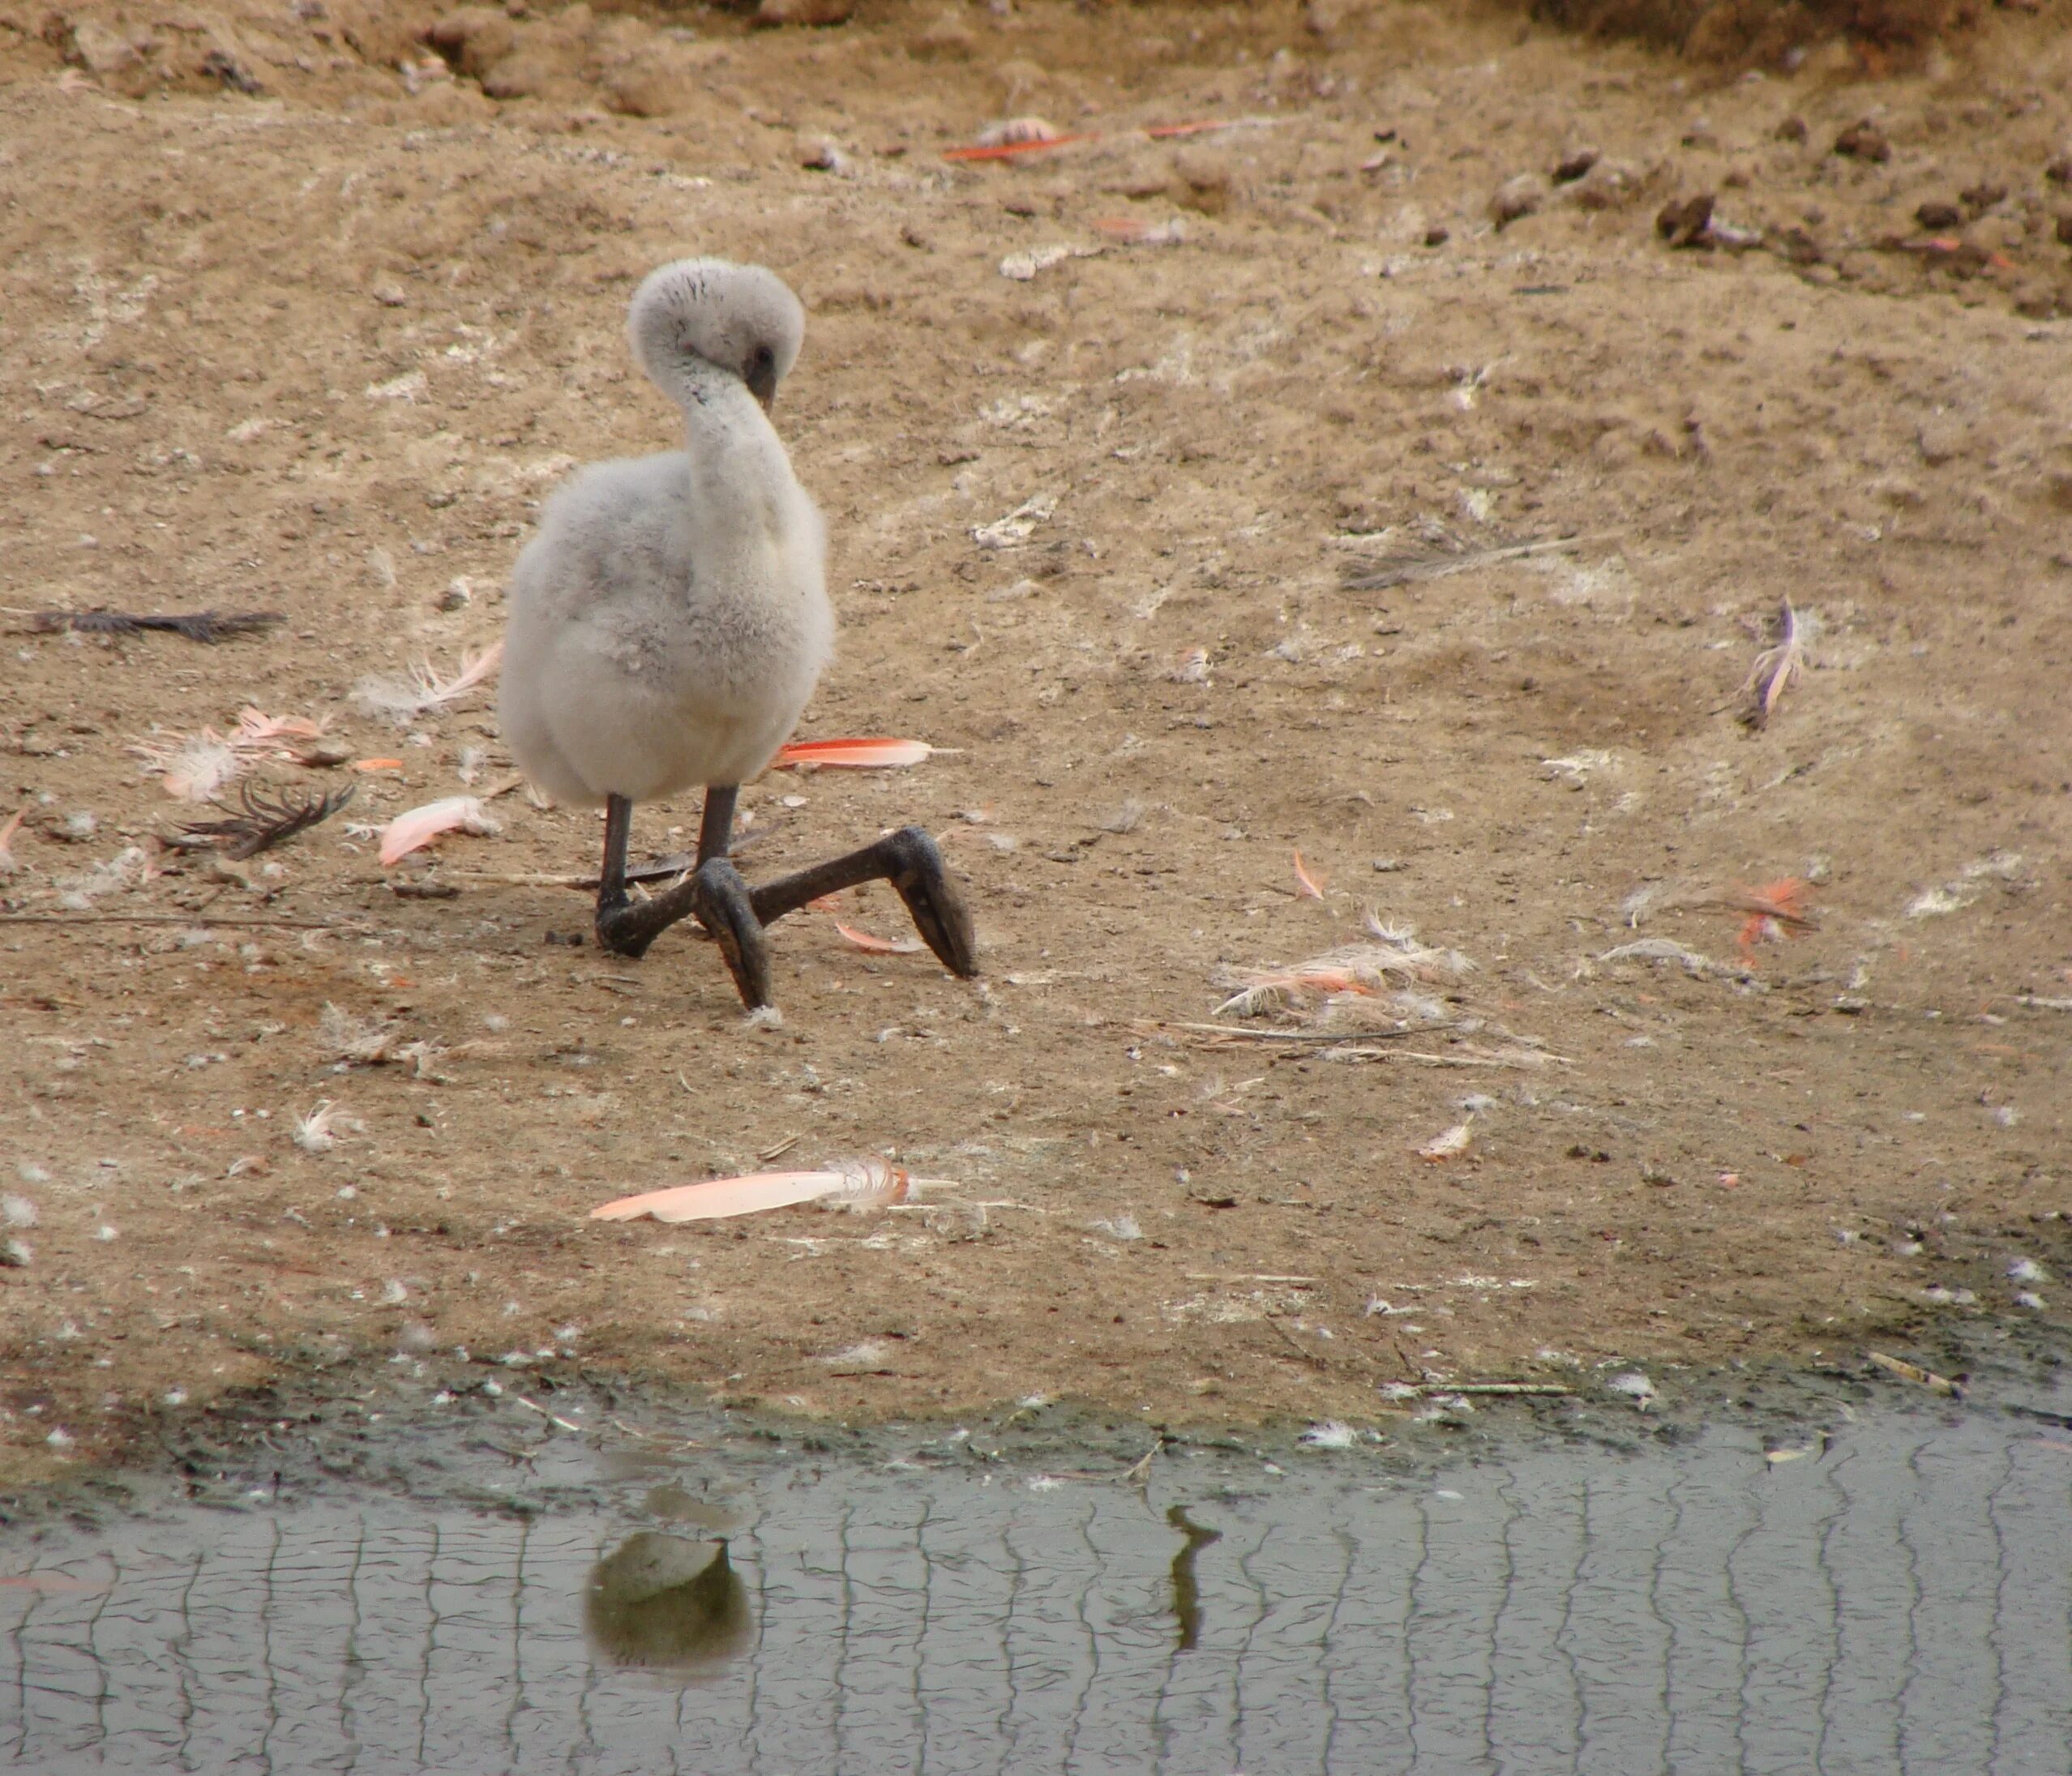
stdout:
<svg viewBox="0 0 2072 1776">
<path fill-rule="evenodd" d="M 727 1544 L 655 1529 L 628 1536 L 597 1563 L 582 1619 L 601 1654 L 655 1670 L 719 1664 L 748 1645 L 752 1629 Z"/>
</svg>

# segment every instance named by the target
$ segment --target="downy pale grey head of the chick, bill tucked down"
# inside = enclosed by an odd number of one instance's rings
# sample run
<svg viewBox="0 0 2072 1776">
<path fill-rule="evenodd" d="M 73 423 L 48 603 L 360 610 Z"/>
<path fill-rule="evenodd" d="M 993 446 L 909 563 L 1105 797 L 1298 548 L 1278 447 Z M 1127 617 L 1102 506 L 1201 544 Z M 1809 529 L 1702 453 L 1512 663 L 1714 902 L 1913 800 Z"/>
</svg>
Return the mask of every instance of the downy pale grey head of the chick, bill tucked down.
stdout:
<svg viewBox="0 0 2072 1776">
<path fill-rule="evenodd" d="M 806 311 L 783 278 L 731 259 L 678 259 L 634 290 L 626 317 L 640 369 L 657 388 L 686 394 L 692 359 L 738 375 L 767 408 L 798 361 Z"/>
</svg>

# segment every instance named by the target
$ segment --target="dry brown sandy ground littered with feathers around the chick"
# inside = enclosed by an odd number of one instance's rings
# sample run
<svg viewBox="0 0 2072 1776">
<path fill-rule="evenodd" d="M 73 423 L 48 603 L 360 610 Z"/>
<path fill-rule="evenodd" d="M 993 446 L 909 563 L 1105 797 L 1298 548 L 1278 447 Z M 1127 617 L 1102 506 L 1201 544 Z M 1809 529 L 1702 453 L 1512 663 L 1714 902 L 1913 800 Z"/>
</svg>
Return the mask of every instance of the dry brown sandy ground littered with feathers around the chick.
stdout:
<svg viewBox="0 0 2072 1776">
<path fill-rule="evenodd" d="M 2062 1310 L 2062 6 L 1875 81 L 1411 4 L 671 21 L 477 10 L 441 58 L 408 8 L 0 15 L 0 601 L 288 618 L 6 640 L 10 1476 L 350 1362 L 1370 1420 Z M 1026 112 L 1090 139 L 941 157 Z M 1200 120 L 1239 126 L 1142 133 Z M 551 941 L 595 814 L 365 835 L 508 781 L 493 696 L 354 690 L 495 640 L 541 495 L 671 441 L 620 325 L 688 251 L 812 317 L 777 419 L 843 638 L 802 732 L 947 748 L 765 779 L 744 866 L 922 821 L 982 984 L 808 914 L 748 1028 L 688 930 Z M 135 748 L 244 707 L 402 769 L 259 756 L 356 802 L 164 850 L 211 810 Z M 1792 877 L 1813 924 L 1751 928 Z M 1405 930 L 1382 993 L 1218 1013 Z M 777 1150 L 961 1190 L 586 1221 Z"/>
</svg>

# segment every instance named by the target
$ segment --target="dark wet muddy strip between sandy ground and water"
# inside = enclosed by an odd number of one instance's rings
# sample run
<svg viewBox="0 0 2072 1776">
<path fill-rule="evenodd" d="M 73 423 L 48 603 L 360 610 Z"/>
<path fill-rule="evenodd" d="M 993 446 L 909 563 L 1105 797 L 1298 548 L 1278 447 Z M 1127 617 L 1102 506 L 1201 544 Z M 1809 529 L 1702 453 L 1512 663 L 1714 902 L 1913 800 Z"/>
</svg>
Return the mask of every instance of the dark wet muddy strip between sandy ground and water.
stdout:
<svg viewBox="0 0 2072 1776">
<path fill-rule="evenodd" d="M 1566 1395 L 1434 1386 L 1426 1397 L 1384 1401 L 1349 1420 L 1256 1424 L 1129 1417 L 1069 1399 L 839 1422 L 584 1370 L 516 1376 L 416 1362 L 342 1366 L 133 1424 L 120 1442 L 124 1461 L 68 1463 L 52 1480 L 0 1494 L 0 1529 L 33 1536 L 39 1523 L 83 1525 L 102 1513 L 162 1505 L 274 1509 L 354 1488 L 423 1500 L 427 1509 L 535 1515 L 595 1507 L 603 1494 L 541 1490 L 522 1480 L 526 1451 L 566 1438 L 586 1444 L 607 1473 L 684 1467 L 727 1484 L 818 1463 L 920 1463 L 1142 1486 L 1183 1455 L 1208 1457 L 1210 1469 L 1229 1473 L 1258 1473 L 1268 1463 L 1401 1480 L 1556 1446 L 1616 1459 L 1720 1426 L 1782 1449 L 1863 1411 L 1954 1417 L 1966 1403 L 2026 1417 L 2043 1436 L 2072 1430 L 2062 1401 L 2035 1405 L 2072 1374 L 2072 1341 L 2049 1328 L 1950 1326 L 1881 1355 L 1917 1374 L 1867 1357 L 1811 1368 L 1763 1359 L 1711 1372 L 1635 1364 L 1575 1378 Z M 508 1484 L 493 1480 L 499 1471 Z"/>
</svg>

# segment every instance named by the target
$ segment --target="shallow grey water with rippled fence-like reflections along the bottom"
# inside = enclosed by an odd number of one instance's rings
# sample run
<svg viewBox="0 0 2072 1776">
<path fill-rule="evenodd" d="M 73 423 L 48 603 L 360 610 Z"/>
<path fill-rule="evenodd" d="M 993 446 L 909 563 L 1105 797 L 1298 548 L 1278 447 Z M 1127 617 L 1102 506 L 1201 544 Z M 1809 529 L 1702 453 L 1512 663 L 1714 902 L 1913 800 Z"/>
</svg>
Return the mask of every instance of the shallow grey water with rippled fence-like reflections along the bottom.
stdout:
<svg viewBox="0 0 2072 1776">
<path fill-rule="evenodd" d="M 2039 1417 L 1879 1411 L 1784 1461 L 1714 1428 L 1415 1476 L 1372 1449 L 1169 1451 L 1142 1486 L 955 1438 L 864 1465 L 520 1442 L 512 1417 L 439 1434 L 439 1496 L 354 1480 L 10 1531 L 6 1571 L 35 1583 L 0 1589 L 0 1755 L 800 1776 L 2072 1757 L 2072 1430 Z"/>
</svg>

